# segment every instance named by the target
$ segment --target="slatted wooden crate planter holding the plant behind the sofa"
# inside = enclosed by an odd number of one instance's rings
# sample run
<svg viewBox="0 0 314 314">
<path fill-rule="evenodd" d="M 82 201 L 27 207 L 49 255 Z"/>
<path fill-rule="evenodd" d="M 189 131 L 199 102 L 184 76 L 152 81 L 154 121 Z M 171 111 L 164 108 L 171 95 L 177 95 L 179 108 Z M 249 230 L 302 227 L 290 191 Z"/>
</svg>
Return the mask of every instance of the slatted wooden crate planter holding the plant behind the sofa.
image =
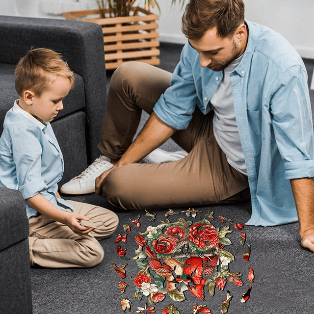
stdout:
<svg viewBox="0 0 314 314">
<path fill-rule="evenodd" d="M 116 69 L 127 61 L 158 65 L 160 61 L 157 15 L 142 8 L 132 8 L 128 17 L 99 18 L 99 10 L 65 12 L 68 20 L 93 22 L 103 27 L 106 69 Z M 95 15 L 98 16 L 95 17 Z M 106 16 L 108 10 L 106 10 Z M 92 16 L 92 17 L 91 17 Z"/>
</svg>

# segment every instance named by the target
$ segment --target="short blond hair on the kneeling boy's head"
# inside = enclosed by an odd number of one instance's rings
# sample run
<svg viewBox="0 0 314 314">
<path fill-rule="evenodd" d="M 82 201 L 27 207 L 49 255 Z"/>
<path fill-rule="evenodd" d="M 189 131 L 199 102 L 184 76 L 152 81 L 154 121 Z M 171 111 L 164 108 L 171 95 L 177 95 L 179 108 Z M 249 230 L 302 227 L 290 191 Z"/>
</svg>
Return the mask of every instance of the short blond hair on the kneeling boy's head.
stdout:
<svg viewBox="0 0 314 314">
<path fill-rule="evenodd" d="M 75 78 L 68 64 L 60 53 L 51 49 L 32 49 L 21 58 L 15 69 L 15 89 L 20 96 L 26 90 L 31 90 L 37 97 L 47 91 L 52 83 L 52 77 L 69 78 L 71 89 Z"/>
</svg>

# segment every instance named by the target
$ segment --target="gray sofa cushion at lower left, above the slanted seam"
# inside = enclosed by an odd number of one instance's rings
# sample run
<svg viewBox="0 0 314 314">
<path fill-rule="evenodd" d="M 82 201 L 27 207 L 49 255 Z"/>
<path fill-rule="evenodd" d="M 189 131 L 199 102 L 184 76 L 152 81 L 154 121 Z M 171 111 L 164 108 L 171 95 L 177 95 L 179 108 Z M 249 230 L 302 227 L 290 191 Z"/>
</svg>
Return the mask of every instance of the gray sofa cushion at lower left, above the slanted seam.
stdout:
<svg viewBox="0 0 314 314">
<path fill-rule="evenodd" d="M 22 193 L 0 187 L 0 251 L 28 237 L 28 219 Z"/>
</svg>

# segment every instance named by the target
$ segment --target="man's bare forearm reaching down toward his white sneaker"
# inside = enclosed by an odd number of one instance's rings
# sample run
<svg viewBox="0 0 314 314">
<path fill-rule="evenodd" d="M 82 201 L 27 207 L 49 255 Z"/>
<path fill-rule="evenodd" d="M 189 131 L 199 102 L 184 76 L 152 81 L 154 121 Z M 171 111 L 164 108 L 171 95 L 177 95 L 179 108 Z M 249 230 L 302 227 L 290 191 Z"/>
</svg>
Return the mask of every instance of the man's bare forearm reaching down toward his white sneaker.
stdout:
<svg viewBox="0 0 314 314">
<path fill-rule="evenodd" d="M 153 112 L 116 167 L 140 161 L 163 144 L 175 131 L 177 130 L 165 124 Z"/>
</svg>

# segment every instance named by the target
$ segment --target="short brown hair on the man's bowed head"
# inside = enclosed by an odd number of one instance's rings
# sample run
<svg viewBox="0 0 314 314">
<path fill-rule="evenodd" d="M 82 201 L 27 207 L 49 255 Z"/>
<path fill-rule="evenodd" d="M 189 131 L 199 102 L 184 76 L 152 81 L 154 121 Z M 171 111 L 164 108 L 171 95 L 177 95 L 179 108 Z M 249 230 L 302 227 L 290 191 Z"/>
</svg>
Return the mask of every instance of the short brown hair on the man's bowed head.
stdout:
<svg viewBox="0 0 314 314">
<path fill-rule="evenodd" d="M 188 39 L 201 39 L 214 27 L 221 38 L 232 36 L 244 23 L 243 0 L 190 0 L 182 17 L 182 31 Z"/>
</svg>

